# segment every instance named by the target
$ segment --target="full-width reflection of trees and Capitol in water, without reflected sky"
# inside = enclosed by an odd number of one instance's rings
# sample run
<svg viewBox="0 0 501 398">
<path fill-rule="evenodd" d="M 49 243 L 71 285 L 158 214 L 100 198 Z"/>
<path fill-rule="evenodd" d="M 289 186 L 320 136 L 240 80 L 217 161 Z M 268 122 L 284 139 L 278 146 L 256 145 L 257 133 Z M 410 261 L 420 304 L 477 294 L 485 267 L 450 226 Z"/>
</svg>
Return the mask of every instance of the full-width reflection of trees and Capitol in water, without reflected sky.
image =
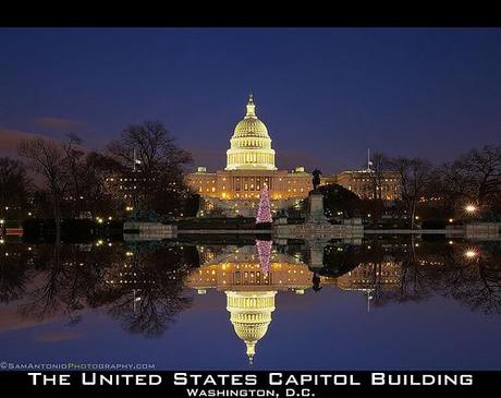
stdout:
<svg viewBox="0 0 501 398">
<path fill-rule="evenodd" d="M 2 244 L 0 301 L 16 314 L 4 322 L 64 318 L 77 327 L 88 310 L 100 309 L 124 330 L 158 337 L 194 305 L 193 292 L 199 302 L 212 289 L 225 296 L 231 324 L 221 327 L 233 327 L 253 363 L 284 292 L 303 300 L 308 291 L 327 298 L 325 289 L 339 289 L 365 297 L 359 311 L 443 297 L 493 316 L 501 312 L 497 242 L 247 243 Z"/>
</svg>

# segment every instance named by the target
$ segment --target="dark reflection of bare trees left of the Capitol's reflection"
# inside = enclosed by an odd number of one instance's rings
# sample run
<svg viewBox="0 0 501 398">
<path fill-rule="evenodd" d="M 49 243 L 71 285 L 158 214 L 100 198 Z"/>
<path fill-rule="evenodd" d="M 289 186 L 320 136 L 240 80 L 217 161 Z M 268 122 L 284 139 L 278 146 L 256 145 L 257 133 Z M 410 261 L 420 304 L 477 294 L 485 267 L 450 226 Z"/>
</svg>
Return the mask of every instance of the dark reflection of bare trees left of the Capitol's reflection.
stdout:
<svg viewBox="0 0 501 398">
<path fill-rule="evenodd" d="M 142 244 L 4 245 L 0 262 L 2 302 L 38 321 L 103 307 L 124 329 L 161 335 L 190 306 L 183 277 L 198 265 L 194 246 Z"/>
</svg>

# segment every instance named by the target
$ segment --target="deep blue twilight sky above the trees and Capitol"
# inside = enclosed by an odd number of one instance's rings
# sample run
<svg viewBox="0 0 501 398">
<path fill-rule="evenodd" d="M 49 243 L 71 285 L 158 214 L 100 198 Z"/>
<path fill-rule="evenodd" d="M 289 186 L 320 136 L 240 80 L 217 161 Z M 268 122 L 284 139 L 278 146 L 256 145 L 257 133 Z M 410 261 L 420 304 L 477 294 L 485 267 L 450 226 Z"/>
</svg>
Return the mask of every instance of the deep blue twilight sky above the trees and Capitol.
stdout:
<svg viewBox="0 0 501 398">
<path fill-rule="evenodd" d="M 439 162 L 500 143 L 501 29 L 0 29 L 0 154 L 161 120 L 221 168 L 250 91 L 279 168 L 356 168 L 367 147 Z"/>
</svg>

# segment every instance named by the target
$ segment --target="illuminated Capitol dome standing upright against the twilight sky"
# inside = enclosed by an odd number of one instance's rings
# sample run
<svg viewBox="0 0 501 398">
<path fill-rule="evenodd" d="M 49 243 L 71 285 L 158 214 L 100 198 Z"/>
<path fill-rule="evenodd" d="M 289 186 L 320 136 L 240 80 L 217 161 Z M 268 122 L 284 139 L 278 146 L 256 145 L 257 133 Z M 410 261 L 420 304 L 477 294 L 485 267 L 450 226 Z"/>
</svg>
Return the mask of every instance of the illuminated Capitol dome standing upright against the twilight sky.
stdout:
<svg viewBox="0 0 501 398">
<path fill-rule="evenodd" d="M 274 149 L 268 129 L 256 116 L 253 95 L 248 96 L 247 113 L 230 140 L 225 170 L 277 170 Z"/>
</svg>

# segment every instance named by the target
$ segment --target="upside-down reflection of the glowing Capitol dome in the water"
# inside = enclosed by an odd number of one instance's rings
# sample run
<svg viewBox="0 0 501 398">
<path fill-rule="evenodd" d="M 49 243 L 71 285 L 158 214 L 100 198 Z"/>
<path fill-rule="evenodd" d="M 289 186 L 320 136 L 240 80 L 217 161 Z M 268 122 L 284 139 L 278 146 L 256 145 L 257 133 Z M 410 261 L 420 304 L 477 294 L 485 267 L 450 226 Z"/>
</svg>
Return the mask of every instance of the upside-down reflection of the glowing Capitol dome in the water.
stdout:
<svg viewBox="0 0 501 398">
<path fill-rule="evenodd" d="M 227 291 L 227 310 L 236 336 L 244 340 L 252 364 L 256 343 L 266 335 L 274 311 L 276 291 Z"/>
</svg>

